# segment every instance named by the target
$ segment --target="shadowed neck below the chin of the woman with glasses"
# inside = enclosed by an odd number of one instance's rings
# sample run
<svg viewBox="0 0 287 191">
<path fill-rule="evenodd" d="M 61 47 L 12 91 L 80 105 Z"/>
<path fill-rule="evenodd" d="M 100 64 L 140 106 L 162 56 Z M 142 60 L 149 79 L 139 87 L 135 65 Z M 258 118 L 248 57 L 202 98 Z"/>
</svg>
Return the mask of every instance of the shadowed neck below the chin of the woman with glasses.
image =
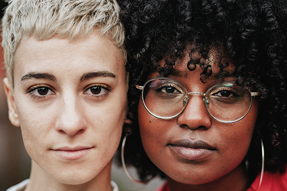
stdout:
<svg viewBox="0 0 287 191">
<path fill-rule="evenodd" d="M 248 189 L 248 178 L 244 165 L 238 165 L 223 177 L 205 184 L 185 184 L 167 178 L 171 191 L 245 191 Z"/>
</svg>

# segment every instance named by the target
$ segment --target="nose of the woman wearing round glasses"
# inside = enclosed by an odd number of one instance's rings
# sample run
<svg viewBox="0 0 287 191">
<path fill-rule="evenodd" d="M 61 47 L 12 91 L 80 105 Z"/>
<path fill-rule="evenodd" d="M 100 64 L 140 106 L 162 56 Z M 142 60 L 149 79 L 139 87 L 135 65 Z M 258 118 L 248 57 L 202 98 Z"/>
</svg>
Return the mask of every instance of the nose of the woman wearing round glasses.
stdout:
<svg viewBox="0 0 287 191">
<path fill-rule="evenodd" d="M 211 126 L 211 116 L 208 114 L 203 95 L 191 94 L 185 109 L 179 115 L 177 122 L 181 128 L 190 130 L 208 130 Z"/>
</svg>

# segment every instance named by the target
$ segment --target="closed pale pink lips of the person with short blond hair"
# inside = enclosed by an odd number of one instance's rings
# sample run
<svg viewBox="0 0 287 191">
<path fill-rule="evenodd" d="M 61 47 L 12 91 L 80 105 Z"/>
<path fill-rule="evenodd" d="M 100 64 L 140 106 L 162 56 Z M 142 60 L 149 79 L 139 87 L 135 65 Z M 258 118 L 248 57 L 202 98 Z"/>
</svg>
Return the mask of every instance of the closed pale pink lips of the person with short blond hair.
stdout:
<svg viewBox="0 0 287 191">
<path fill-rule="evenodd" d="M 58 149 L 52 149 L 60 158 L 65 160 L 78 160 L 83 158 L 90 152 L 93 147 L 62 147 Z"/>
</svg>

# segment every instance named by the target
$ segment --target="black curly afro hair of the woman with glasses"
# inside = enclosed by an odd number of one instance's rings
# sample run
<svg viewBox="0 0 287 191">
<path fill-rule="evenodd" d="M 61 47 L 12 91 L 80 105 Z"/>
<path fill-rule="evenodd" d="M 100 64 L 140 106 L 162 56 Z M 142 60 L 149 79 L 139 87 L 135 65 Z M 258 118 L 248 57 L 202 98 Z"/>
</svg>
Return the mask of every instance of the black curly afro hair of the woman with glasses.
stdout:
<svg viewBox="0 0 287 191">
<path fill-rule="evenodd" d="M 199 51 L 201 57 L 187 64 L 188 70 L 201 67 L 202 82 L 212 68 L 202 60 L 211 47 L 223 52 L 218 61 L 220 75 L 228 75 L 228 58 L 236 67 L 236 83 L 259 92 L 259 113 L 250 149 L 249 176 L 261 169 L 262 138 L 265 146 L 265 169 L 285 171 L 287 162 L 287 1 L 285 0 L 131 0 L 119 1 L 121 20 L 126 30 L 129 82 L 129 127 L 125 146 L 127 164 L 136 167 L 141 180 L 156 175 L 164 177 L 142 147 L 137 120 L 140 91 L 151 72 L 168 76 L 176 60 Z M 204 58 L 204 59 L 202 59 Z M 164 59 L 164 67 L 159 61 Z M 123 132 L 123 135 L 125 133 Z M 243 161 L 243 162 L 244 162 Z"/>
</svg>

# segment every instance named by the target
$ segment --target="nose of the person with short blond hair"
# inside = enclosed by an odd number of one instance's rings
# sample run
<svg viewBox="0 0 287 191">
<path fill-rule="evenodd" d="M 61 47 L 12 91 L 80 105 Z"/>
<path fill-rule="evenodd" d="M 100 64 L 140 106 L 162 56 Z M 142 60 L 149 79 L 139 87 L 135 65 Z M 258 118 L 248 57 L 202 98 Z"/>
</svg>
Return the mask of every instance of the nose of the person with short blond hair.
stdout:
<svg viewBox="0 0 287 191">
<path fill-rule="evenodd" d="M 74 136 L 83 133 L 87 128 L 82 104 L 79 103 L 77 96 L 62 96 L 59 100 L 59 115 L 56 121 L 56 130 L 62 134 Z"/>
</svg>

